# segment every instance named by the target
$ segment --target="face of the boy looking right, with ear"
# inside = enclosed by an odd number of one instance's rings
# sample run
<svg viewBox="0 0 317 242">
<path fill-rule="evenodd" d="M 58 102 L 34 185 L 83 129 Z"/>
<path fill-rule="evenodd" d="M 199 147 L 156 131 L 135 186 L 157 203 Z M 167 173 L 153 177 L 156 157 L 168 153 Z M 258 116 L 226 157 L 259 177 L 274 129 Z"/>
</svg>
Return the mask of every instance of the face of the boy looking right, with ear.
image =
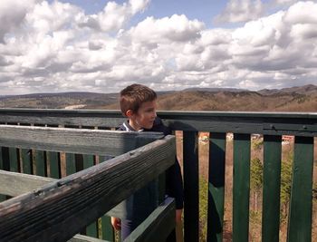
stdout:
<svg viewBox="0 0 317 242">
<path fill-rule="evenodd" d="M 157 117 L 157 101 L 143 102 L 137 113 L 131 113 L 130 125 L 136 131 L 140 129 L 151 129 Z"/>
</svg>

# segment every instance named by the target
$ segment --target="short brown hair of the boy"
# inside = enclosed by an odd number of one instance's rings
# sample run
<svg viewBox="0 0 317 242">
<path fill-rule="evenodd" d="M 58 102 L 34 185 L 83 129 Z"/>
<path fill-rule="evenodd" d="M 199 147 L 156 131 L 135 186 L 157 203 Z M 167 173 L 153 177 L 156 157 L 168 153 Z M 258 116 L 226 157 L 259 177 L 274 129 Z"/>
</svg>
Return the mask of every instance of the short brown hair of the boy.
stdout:
<svg viewBox="0 0 317 242">
<path fill-rule="evenodd" d="M 157 99 L 157 93 L 145 85 L 132 84 L 120 92 L 120 109 L 123 115 L 128 110 L 138 112 L 143 102 L 152 102 Z"/>
</svg>

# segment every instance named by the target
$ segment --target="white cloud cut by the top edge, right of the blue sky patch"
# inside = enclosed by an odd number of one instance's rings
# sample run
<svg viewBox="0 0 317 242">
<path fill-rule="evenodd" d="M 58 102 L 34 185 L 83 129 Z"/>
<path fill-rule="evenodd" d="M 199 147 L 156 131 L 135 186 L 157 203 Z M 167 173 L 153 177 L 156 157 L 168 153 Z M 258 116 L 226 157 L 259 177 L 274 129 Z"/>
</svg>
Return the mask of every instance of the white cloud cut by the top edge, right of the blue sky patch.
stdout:
<svg viewBox="0 0 317 242">
<path fill-rule="evenodd" d="M 216 23 L 238 23 L 253 20 L 264 13 L 261 0 L 229 0 L 225 10 L 216 15 Z"/>
</svg>

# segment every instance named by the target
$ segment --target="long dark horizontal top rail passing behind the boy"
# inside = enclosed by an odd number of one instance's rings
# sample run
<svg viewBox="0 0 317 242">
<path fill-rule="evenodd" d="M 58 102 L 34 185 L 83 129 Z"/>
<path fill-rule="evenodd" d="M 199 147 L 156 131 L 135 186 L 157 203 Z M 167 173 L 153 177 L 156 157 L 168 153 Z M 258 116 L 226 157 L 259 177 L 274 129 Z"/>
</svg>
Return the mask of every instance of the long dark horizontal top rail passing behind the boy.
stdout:
<svg viewBox="0 0 317 242">
<path fill-rule="evenodd" d="M 317 136 L 317 113 L 259 111 L 159 111 L 178 131 Z M 0 122 L 118 127 L 120 111 L 0 109 Z"/>
</svg>

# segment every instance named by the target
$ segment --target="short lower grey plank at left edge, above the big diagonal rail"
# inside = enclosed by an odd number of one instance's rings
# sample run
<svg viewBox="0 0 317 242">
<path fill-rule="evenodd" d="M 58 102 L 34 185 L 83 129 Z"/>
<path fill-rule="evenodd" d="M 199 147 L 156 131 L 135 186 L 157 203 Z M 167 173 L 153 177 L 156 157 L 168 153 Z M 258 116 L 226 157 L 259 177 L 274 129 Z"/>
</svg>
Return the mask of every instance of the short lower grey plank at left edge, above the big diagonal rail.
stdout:
<svg viewBox="0 0 317 242">
<path fill-rule="evenodd" d="M 0 170 L 0 194 L 18 196 L 38 189 L 55 179 Z"/>
</svg>

